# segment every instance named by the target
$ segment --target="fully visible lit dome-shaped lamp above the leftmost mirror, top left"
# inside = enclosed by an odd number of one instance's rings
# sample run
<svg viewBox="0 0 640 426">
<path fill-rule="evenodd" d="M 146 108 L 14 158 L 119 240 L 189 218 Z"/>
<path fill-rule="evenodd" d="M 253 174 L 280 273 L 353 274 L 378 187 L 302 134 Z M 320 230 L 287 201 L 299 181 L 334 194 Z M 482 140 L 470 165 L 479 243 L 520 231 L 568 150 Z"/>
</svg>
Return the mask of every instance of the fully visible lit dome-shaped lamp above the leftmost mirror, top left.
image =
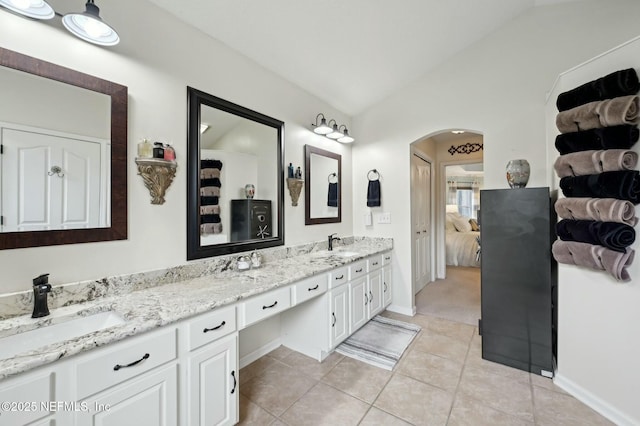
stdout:
<svg viewBox="0 0 640 426">
<path fill-rule="evenodd" d="M 116 30 L 100 18 L 100 9 L 88 0 L 82 13 L 68 13 L 62 17 L 65 28 L 73 35 L 89 43 L 115 46 L 120 42 Z"/>
</svg>

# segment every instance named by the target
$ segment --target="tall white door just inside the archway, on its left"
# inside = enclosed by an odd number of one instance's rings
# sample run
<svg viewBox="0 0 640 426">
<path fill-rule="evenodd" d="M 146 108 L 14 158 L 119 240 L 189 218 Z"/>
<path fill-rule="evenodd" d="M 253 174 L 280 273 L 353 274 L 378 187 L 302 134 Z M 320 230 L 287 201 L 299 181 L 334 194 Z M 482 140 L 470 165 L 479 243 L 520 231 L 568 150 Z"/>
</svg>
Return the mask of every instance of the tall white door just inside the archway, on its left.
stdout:
<svg viewBox="0 0 640 426">
<path fill-rule="evenodd" d="M 413 279 L 415 293 L 431 280 L 431 163 L 411 156 Z"/>
</svg>

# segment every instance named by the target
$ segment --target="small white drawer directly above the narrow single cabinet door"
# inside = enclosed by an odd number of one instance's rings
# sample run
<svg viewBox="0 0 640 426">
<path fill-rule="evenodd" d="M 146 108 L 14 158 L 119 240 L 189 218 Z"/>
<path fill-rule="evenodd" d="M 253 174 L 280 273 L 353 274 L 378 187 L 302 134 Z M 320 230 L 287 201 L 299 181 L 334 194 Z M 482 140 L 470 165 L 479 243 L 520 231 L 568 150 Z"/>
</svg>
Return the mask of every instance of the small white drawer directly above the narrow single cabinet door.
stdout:
<svg viewBox="0 0 640 426">
<path fill-rule="evenodd" d="M 226 306 L 195 317 L 189 322 L 189 350 L 236 331 L 236 307 Z"/>
</svg>

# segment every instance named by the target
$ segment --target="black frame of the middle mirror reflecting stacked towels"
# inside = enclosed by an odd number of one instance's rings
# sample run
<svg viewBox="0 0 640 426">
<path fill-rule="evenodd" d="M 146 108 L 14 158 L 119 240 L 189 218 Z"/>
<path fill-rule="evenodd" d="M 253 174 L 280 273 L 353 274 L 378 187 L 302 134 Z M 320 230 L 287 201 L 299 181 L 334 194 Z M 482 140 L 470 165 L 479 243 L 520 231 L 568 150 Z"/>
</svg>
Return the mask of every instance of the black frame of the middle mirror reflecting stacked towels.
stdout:
<svg viewBox="0 0 640 426">
<path fill-rule="evenodd" d="M 187 260 L 284 245 L 284 122 L 187 87 Z M 278 236 L 262 240 L 200 244 L 200 107 L 206 105 L 277 130 Z"/>
</svg>

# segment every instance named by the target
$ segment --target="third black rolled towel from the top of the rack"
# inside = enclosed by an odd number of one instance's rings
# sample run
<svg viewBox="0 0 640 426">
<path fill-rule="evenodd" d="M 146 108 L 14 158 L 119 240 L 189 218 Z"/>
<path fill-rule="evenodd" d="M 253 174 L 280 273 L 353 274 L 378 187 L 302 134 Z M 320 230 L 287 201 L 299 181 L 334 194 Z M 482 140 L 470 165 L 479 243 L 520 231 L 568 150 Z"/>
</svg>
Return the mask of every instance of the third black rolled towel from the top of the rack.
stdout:
<svg viewBox="0 0 640 426">
<path fill-rule="evenodd" d="M 637 170 L 567 176 L 560 179 L 565 197 L 617 198 L 640 203 L 640 174 Z"/>
</svg>

